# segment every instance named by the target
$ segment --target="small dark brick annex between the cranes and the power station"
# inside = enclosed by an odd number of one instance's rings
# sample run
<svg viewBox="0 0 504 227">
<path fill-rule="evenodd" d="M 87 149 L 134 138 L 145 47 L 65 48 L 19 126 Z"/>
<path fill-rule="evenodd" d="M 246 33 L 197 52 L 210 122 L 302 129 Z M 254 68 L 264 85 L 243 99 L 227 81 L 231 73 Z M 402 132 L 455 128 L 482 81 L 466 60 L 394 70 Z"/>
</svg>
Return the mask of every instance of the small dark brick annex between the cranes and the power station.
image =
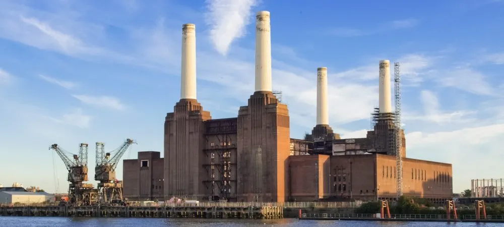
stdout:
<svg viewBox="0 0 504 227">
<path fill-rule="evenodd" d="M 159 151 L 138 152 L 137 159 L 123 160 L 122 194 L 130 201 L 163 200 L 164 159 Z"/>
</svg>

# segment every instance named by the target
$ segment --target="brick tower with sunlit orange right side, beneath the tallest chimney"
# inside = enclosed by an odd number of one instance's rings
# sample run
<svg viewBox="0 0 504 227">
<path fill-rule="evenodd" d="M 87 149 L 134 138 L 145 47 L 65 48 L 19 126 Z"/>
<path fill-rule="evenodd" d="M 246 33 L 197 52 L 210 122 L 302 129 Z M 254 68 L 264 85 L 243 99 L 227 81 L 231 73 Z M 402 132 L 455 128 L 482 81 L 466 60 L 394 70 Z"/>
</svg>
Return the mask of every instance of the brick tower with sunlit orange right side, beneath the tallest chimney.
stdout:
<svg viewBox="0 0 504 227">
<path fill-rule="evenodd" d="M 289 112 L 272 92 L 255 92 L 238 112 L 238 201 L 285 201 Z"/>
</svg>

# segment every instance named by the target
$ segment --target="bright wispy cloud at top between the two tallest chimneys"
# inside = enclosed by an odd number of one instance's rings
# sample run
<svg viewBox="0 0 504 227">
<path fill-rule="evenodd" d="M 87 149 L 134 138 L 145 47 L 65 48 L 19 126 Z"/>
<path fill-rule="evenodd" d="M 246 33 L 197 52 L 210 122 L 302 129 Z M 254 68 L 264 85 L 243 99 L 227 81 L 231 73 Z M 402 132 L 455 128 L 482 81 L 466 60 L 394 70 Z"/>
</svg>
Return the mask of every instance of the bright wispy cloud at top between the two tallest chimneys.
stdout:
<svg viewBox="0 0 504 227">
<path fill-rule="evenodd" d="M 245 26 L 252 17 L 256 0 L 207 0 L 207 23 L 212 27 L 211 39 L 215 48 L 225 55 L 234 39 L 245 35 Z"/>
</svg>

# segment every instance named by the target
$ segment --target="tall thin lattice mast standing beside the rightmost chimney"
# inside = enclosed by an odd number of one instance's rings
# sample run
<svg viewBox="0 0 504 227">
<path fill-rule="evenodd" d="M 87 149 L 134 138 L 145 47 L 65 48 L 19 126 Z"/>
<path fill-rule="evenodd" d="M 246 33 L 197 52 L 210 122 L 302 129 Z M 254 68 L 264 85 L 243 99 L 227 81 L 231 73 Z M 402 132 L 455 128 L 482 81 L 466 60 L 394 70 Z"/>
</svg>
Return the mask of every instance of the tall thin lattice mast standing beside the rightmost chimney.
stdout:
<svg viewBox="0 0 504 227">
<path fill-rule="evenodd" d="M 401 133 L 401 70 L 399 62 L 394 63 L 394 93 L 395 93 L 395 155 L 397 165 L 397 198 L 403 195 L 403 157 Z"/>
</svg>

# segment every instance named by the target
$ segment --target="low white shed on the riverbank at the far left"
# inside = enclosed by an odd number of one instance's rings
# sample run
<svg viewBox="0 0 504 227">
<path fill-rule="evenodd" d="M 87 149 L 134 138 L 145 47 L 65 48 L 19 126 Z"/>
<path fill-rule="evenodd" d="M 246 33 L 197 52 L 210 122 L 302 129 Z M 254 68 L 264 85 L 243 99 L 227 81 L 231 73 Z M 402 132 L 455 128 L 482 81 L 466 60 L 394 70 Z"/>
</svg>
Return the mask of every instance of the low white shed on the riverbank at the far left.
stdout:
<svg viewBox="0 0 504 227">
<path fill-rule="evenodd" d="M 0 192 L 0 203 L 53 202 L 54 195 L 46 192 Z"/>
</svg>

